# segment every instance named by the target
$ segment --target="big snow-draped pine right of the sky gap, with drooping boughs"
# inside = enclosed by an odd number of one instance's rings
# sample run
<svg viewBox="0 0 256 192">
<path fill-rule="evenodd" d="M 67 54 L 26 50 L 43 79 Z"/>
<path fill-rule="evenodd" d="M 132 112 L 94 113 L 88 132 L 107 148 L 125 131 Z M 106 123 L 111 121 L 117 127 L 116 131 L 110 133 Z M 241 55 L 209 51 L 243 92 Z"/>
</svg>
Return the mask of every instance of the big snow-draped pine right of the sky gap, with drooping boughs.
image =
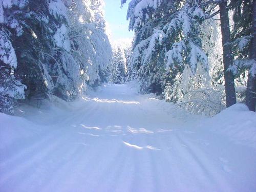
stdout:
<svg viewBox="0 0 256 192">
<path fill-rule="evenodd" d="M 131 62 L 142 93 L 161 93 L 169 70 L 172 78 L 185 65 L 193 73 L 198 63 L 207 70 L 198 31 L 204 13 L 197 1 L 131 1 L 127 18 L 135 31 Z"/>
</svg>

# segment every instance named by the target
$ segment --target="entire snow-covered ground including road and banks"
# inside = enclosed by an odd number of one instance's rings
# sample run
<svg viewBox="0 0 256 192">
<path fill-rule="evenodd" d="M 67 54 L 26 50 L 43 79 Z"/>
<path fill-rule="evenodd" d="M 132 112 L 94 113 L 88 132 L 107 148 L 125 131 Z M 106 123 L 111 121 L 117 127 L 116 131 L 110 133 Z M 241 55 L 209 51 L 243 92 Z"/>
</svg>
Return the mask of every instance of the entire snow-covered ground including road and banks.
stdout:
<svg viewBox="0 0 256 192">
<path fill-rule="evenodd" d="M 256 115 L 212 118 L 127 85 L 0 113 L 0 191 L 256 191 Z"/>
</svg>

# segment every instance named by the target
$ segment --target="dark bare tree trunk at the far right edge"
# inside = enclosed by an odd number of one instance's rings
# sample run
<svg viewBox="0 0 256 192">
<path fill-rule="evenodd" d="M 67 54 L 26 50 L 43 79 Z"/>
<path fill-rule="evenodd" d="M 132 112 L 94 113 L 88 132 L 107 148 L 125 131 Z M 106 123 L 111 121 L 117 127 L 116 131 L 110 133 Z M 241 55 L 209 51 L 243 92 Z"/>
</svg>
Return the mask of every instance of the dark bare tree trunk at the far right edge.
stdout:
<svg viewBox="0 0 256 192">
<path fill-rule="evenodd" d="M 256 62 L 256 0 L 252 3 L 252 40 L 250 44 L 250 59 Z M 252 72 L 253 73 L 253 72 Z M 247 90 L 246 90 L 246 105 L 250 111 L 255 111 L 256 104 L 256 75 L 248 74 Z"/>
</svg>

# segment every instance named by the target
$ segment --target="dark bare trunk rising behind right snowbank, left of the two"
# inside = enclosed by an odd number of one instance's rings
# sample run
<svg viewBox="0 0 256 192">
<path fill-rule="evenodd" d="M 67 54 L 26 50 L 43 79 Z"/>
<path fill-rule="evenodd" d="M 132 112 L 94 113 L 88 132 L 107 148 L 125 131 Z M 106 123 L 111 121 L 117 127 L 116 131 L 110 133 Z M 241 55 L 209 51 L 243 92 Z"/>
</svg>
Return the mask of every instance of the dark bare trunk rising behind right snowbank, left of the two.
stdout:
<svg viewBox="0 0 256 192">
<path fill-rule="evenodd" d="M 230 30 L 227 1 L 220 3 L 220 17 L 221 17 L 221 34 L 223 46 L 223 64 L 224 64 L 224 79 L 227 108 L 236 104 L 236 92 L 234 90 L 234 76 L 232 72 L 227 71 L 229 66 L 233 65 L 231 46 L 230 46 Z"/>
</svg>

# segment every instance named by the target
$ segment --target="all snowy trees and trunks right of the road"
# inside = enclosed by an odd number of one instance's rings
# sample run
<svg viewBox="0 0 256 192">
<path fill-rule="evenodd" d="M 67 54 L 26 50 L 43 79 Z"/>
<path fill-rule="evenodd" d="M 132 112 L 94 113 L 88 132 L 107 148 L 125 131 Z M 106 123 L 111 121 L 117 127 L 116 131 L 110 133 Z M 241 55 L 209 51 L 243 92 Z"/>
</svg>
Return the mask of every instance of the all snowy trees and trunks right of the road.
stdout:
<svg viewBox="0 0 256 192">
<path fill-rule="evenodd" d="M 215 115 L 236 100 L 255 111 L 254 5 L 131 0 L 127 19 L 135 37 L 127 79 L 139 79 L 141 93 L 162 94 L 196 114 Z"/>
</svg>

